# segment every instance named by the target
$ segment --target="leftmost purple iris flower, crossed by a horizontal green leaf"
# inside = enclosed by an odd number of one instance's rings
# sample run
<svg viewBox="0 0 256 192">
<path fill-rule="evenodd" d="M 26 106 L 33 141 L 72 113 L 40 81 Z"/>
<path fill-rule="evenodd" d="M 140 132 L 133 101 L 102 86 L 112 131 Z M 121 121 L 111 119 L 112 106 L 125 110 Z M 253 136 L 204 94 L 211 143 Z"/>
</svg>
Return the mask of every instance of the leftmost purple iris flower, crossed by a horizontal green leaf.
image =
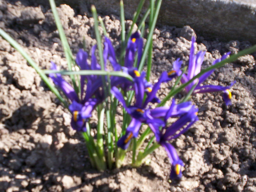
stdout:
<svg viewBox="0 0 256 192">
<path fill-rule="evenodd" d="M 91 64 L 87 63 L 87 53 L 82 49 L 79 50 L 76 56 L 76 63 L 81 70 L 100 70 L 101 67 L 97 63 L 95 56 L 96 46 L 91 49 Z M 57 66 L 51 62 L 51 69 L 57 70 Z M 91 112 L 95 106 L 102 102 L 104 99 L 104 93 L 102 92 L 102 78 L 97 75 L 81 75 L 81 95 L 78 96 L 73 87 L 66 82 L 61 74 L 49 74 L 50 78 L 56 86 L 60 87 L 66 97 L 71 101 L 69 110 L 72 113 L 71 127 L 76 131 L 86 131 L 86 121 L 91 117 Z M 86 91 L 84 86 L 86 84 Z"/>
</svg>

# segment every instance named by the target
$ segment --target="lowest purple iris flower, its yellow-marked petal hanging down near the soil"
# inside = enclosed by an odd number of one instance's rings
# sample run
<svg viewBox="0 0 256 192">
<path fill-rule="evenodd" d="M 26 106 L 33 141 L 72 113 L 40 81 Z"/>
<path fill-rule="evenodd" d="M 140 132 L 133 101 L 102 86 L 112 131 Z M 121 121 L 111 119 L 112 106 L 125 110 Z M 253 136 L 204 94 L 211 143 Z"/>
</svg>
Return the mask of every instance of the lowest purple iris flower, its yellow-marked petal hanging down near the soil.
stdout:
<svg viewBox="0 0 256 192">
<path fill-rule="evenodd" d="M 196 109 L 191 102 L 175 104 L 173 99 L 172 105 L 166 113 L 165 121 L 170 117 L 179 118 L 172 125 L 165 126 L 160 131 L 154 131 L 157 142 L 165 148 L 170 162 L 172 163 L 171 179 L 181 178 L 181 167 L 184 166 L 184 163 L 177 155 L 175 148 L 168 143 L 168 141 L 177 138 L 187 131 L 188 128 L 198 120 L 197 112 L 198 109 Z"/>
</svg>

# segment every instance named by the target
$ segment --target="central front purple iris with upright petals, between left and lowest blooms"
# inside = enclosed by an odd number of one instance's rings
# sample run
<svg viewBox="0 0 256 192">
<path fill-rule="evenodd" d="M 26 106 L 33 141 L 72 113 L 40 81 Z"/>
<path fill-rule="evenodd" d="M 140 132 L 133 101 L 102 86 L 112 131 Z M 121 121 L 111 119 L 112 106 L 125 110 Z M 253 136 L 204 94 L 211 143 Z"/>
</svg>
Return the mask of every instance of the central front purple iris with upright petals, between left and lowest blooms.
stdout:
<svg viewBox="0 0 256 192">
<path fill-rule="evenodd" d="M 165 113 L 168 111 L 166 107 L 159 107 L 155 109 L 150 109 L 148 107 L 149 102 L 155 102 L 156 92 L 160 88 L 160 84 L 165 82 L 167 78 L 167 72 L 163 72 L 158 82 L 154 84 L 152 89 L 147 93 L 147 97 L 144 100 L 145 94 L 145 72 L 138 74 L 134 78 L 134 90 L 135 90 L 135 99 L 136 102 L 133 106 L 127 106 L 123 95 L 120 93 L 118 88 L 113 87 L 111 92 L 115 97 L 123 104 L 123 107 L 126 109 L 127 113 L 132 117 L 131 123 L 126 129 L 126 134 L 120 138 L 118 141 L 118 146 L 122 149 L 126 149 L 129 146 L 131 138 L 136 138 L 142 123 L 146 123 L 151 127 L 152 130 L 155 130 L 156 127 L 161 127 L 165 125 L 165 122 L 161 117 L 165 116 Z M 162 114 L 162 116 L 159 116 Z"/>
</svg>

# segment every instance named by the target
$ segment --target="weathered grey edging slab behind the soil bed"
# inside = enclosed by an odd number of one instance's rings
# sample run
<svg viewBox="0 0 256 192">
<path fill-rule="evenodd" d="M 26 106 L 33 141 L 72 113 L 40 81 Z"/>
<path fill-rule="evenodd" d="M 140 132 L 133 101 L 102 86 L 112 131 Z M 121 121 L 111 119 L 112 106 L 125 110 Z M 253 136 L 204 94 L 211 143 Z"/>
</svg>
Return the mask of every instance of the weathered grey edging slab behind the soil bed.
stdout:
<svg viewBox="0 0 256 192">
<path fill-rule="evenodd" d="M 131 19 L 140 0 L 124 0 L 126 19 Z M 101 14 L 119 15 L 119 0 L 64 0 L 73 6 L 94 4 Z M 146 0 L 146 4 L 149 1 Z M 144 10 L 145 11 L 145 8 Z M 158 23 L 191 26 L 197 33 L 256 42 L 256 0 L 163 0 Z"/>
</svg>

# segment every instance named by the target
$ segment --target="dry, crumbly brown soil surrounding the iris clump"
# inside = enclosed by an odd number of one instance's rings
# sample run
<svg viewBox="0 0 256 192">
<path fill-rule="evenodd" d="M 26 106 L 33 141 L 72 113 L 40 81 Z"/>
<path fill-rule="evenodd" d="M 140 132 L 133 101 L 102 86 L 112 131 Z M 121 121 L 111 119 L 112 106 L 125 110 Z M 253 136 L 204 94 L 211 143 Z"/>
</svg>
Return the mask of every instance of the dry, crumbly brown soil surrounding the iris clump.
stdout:
<svg viewBox="0 0 256 192">
<path fill-rule="evenodd" d="M 83 39 L 89 51 L 96 42 L 90 12 L 68 5 L 60 5 L 58 12 L 74 55 L 83 47 Z M 119 18 L 102 17 L 118 52 Z M 127 28 L 130 24 L 126 21 Z M 49 69 L 50 61 L 66 68 L 49 6 L 29 0 L 0 1 L 0 27 L 42 69 Z M 177 58 L 187 63 L 192 35 L 195 31 L 189 26 L 157 27 L 152 81 L 172 69 Z M 221 54 L 234 54 L 250 46 L 249 42 L 220 42 L 201 36 L 196 42 L 197 51 L 208 50 L 203 67 Z M 218 93 L 193 97 L 200 121 L 172 142 L 185 167 L 182 179 L 170 182 L 170 163 L 163 148 L 150 155 L 149 165 L 94 170 L 82 136 L 69 125 L 71 114 L 25 59 L 0 37 L 0 191 L 255 192 L 255 72 L 255 55 L 247 55 L 216 70 L 207 80 L 220 85 L 236 80 L 231 106 L 227 107 Z M 162 88 L 160 97 L 168 93 L 170 85 Z"/>
</svg>

